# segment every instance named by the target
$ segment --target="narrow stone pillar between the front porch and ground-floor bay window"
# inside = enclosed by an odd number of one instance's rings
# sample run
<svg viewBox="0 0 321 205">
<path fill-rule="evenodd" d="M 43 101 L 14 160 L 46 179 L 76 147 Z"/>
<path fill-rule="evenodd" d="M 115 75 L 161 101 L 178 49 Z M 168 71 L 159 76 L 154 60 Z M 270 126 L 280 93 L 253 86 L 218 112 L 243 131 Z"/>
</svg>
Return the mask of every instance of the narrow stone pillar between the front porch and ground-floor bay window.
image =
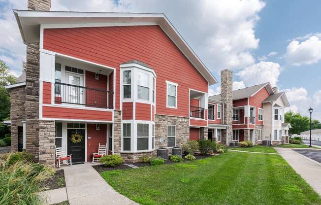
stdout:
<svg viewBox="0 0 321 205">
<path fill-rule="evenodd" d="M 121 153 L 122 150 L 122 111 L 114 111 L 114 154 Z"/>
</svg>

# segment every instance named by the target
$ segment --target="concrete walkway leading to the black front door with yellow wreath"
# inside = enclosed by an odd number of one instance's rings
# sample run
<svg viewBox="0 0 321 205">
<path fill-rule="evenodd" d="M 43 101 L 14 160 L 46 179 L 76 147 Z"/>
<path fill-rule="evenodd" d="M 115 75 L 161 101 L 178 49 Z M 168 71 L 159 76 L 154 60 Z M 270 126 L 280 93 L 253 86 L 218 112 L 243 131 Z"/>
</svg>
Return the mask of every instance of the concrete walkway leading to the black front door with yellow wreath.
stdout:
<svg viewBox="0 0 321 205">
<path fill-rule="evenodd" d="M 63 167 L 70 205 L 138 205 L 109 186 L 92 165 L 86 163 Z M 48 198 L 56 200 L 59 196 L 52 191 L 48 193 Z M 62 198 L 60 200 L 63 201 Z"/>
</svg>

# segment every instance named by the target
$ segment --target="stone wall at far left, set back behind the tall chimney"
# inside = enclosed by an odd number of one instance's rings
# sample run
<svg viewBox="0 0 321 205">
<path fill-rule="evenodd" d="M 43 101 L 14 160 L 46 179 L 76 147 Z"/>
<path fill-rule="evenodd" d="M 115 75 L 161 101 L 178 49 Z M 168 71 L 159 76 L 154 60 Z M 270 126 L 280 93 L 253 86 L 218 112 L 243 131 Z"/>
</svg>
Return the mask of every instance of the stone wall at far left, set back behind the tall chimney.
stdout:
<svg viewBox="0 0 321 205">
<path fill-rule="evenodd" d="M 12 88 L 10 90 L 10 120 L 11 120 L 11 151 L 18 151 L 18 126 L 22 126 L 25 120 L 25 86 Z"/>
</svg>

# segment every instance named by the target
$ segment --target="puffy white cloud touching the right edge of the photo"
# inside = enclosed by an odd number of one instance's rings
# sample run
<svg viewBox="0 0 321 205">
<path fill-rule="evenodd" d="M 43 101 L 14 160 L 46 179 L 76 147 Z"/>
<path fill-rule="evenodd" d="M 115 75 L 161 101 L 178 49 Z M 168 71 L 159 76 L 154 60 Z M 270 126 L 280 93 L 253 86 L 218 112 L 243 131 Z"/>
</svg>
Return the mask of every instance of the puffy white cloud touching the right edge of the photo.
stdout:
<svg viewBox="0 0 321 205">
<path fill-rule="evenodd" d="M 321 38 L 314 35 L 301 43 L 291 41 L 284 57 L 293 66 L 318 63 L 321 60 Z"/>
</svg>

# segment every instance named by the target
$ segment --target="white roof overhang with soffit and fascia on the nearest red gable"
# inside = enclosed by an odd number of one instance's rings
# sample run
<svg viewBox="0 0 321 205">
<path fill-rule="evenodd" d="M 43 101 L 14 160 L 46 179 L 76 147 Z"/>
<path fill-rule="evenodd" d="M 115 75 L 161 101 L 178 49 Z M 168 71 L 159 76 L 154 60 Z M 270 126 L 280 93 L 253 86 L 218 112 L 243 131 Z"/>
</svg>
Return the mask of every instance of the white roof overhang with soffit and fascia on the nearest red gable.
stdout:
<svg viewBox="0 0 321 205">
<path fill-rule="evenodd" d="M 162 13 L 107 13 L 13 10 L 24 43 L 38 43 L 41 28 L 159 25 L 209 85 L 218 80 Z M 41 44 L 40 44 L 41 46 Z"/>
</svg>

